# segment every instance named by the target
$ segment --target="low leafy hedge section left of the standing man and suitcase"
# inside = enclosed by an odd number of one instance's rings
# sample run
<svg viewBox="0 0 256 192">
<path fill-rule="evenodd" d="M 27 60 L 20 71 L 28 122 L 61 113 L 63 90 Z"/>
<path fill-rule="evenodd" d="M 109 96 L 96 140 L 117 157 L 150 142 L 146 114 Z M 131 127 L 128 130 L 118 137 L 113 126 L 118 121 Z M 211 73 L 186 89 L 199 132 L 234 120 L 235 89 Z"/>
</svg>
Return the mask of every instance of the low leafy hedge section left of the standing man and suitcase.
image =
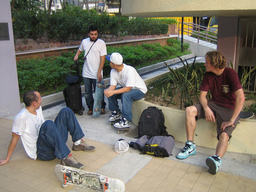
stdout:
<svg viewBox="0 0 256 192">
<path fill-rule="evenodd" d="M 50 90 L 63 84 L 73 61 L 65 57 L 27 59 L 17 62 L 20 94 L 29 90 Z"/>
</svg>

